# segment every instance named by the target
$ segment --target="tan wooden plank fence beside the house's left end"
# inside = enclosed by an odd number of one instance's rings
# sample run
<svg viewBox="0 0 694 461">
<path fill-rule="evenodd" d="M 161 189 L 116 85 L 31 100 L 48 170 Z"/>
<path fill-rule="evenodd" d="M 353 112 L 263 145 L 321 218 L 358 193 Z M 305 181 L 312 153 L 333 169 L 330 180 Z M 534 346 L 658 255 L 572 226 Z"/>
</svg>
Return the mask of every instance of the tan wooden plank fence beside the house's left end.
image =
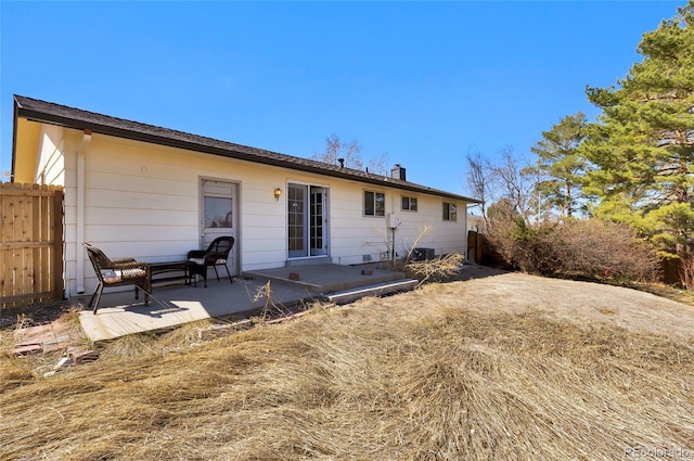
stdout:
<svg viewBox="0 0 694 461">
<path fill-rule="evenodd" d="M 63 299 L 63 189 L 0 183 L 0 310 Z"/>
</svg>

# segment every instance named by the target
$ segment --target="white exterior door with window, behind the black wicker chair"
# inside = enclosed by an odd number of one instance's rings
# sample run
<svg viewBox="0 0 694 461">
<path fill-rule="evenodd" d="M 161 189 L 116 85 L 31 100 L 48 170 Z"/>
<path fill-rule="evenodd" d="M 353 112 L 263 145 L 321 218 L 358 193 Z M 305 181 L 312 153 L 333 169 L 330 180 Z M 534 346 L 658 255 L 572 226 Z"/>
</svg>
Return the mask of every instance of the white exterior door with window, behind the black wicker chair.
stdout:
<svg viewBox="0 0 694 461">
<path fill-rule="evenodd" d="M 203 179 L 201 183 L 201 248 L 207 248 L 218 236 L 233 236 L 234 246 L 227 261 L 232 276 L 239 273 L 236 255 L 241 243 L 236 234 L 239 229 L 237 188 L 233 182 L 213 179 Z"/>
</svg>

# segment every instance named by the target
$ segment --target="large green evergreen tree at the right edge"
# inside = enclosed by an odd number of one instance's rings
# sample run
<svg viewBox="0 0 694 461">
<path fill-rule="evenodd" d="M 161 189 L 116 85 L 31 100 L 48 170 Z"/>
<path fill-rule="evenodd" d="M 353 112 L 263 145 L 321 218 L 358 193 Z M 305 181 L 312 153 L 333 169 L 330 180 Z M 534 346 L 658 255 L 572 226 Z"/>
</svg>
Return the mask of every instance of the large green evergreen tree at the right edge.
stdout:
<svg viewBox="0 0 694 461">
<path fill-rule="evenodd" d="M 694 0 L 643 35 L 618 87 L 588 88 L 603 112 L 581 152 L 593 164 L 583 191 L 592 212 L 632 225 L 664 255 L 694 235 Z"/>
</svg>

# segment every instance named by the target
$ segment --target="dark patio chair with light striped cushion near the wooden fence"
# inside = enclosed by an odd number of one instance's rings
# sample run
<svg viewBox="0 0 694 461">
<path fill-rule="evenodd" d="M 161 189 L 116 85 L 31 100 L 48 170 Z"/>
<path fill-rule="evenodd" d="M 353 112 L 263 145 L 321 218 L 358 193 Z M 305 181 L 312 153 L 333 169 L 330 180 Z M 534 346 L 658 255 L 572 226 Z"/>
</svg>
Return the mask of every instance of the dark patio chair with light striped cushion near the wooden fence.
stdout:
<svg viewBox="0 0 694 461">
<path fill-rule="evenodd" d="M 89 260 L 94 267 L 94 272 L 99 278 L 99 285 L 89 300 L 89 307 L 94 306 L 93 312 L 99 309 L 101 294 L 105 286 L 124 286 L 134 285 L 134 298 L 139 298 L 139 291 L 144 292 L 144 305 L 150 304 L 150 266 L 146 262 L 137 261 L 133 258 L 110 259 L 104 252 L 91 245 L 83 243 L 85 248 L 89 253 Z"/>
</svg>

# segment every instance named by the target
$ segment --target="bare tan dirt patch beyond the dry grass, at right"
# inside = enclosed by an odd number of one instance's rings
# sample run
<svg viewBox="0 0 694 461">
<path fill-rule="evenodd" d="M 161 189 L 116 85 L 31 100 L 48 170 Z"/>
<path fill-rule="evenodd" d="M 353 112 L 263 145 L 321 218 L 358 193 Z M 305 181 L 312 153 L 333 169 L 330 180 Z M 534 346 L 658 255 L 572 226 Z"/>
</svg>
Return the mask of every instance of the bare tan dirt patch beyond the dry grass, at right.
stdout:
<svg viewBox="0 0 694 461">
<path fill-rule="evenodd" d="M 478 311 L 541 311 L 556 319 L 594 320 L 638 333 L 694 341 L 694 306 L 629 287 L 547 279 L 465 266 L 461 282 L 426 285 L 447 302 Z"/>
</svg>

